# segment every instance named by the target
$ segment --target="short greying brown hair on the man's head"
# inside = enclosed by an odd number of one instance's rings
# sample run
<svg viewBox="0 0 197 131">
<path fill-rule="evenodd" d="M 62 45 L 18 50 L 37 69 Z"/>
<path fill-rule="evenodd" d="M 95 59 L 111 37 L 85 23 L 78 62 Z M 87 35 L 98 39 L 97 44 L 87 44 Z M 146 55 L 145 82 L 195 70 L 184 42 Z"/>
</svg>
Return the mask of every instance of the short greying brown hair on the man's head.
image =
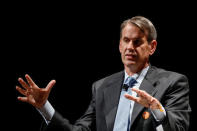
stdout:
<svg viewBox="0 0 197 131">
<path fill-rule="evenodd" d="M 120 38 L 122 37 L 122 30 L 128 24 L 134 24 L 135 26 L 140 28 L 140 30 L 143 33 L 145 33 L 148 42 L 151 42 L 152 40 L 157 39 L 157 31 L 153 23 L 149 19 L 143 16 L 135 16 L 135 17 L 132 17 L 130 19 L 123 21 L 120 26 Z"/>
</svg>

